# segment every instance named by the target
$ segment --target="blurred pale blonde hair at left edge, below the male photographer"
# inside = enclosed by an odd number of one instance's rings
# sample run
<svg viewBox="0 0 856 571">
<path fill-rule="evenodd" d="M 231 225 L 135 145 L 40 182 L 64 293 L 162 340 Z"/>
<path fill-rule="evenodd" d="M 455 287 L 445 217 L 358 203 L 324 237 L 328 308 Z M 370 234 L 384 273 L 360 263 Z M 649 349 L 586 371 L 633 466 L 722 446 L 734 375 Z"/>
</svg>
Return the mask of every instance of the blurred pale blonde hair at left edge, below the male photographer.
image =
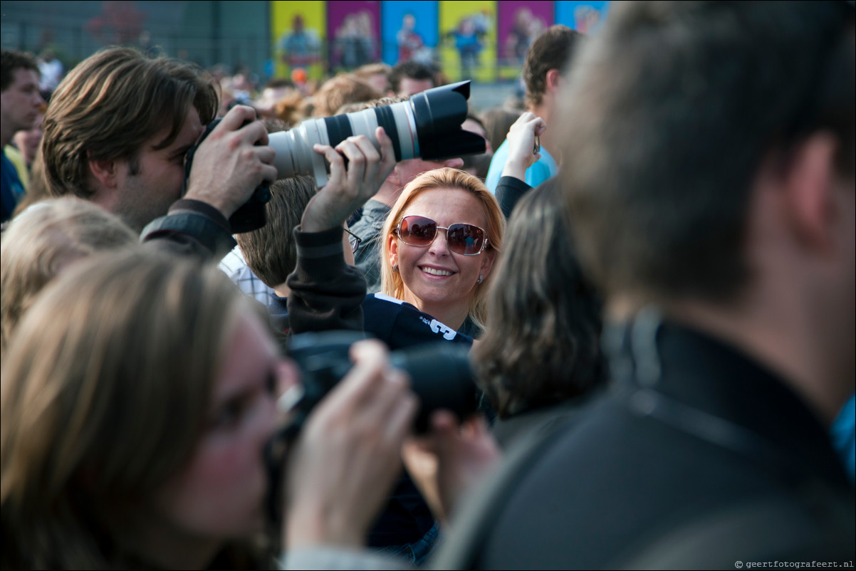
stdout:
<svg viewBox="0 0 856 571">
<path fill-rule="evenodd" d="M 76 197 L 39 202 L 3 232 L 0 247 L 0 353 L 36 295 L 69 259 L 132 247 L 137 235 L 118 217 Z"/>
</svg>

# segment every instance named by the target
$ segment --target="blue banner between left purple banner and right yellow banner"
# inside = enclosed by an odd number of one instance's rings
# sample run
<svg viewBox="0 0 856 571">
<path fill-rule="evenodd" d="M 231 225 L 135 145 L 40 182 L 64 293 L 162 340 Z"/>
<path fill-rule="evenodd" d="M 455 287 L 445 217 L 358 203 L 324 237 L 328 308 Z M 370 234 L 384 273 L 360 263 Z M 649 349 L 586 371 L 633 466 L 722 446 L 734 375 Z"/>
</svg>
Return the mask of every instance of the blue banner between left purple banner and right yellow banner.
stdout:
<svg viewBox="0 0 856 571">
<path fill-rule="evenodd" d="M 439 39 L 437 2 L 400 2 L 386 0 L 381 3 L 381 31 L 383 62 L 415 60 L 431 63 Z"/>
</svg>

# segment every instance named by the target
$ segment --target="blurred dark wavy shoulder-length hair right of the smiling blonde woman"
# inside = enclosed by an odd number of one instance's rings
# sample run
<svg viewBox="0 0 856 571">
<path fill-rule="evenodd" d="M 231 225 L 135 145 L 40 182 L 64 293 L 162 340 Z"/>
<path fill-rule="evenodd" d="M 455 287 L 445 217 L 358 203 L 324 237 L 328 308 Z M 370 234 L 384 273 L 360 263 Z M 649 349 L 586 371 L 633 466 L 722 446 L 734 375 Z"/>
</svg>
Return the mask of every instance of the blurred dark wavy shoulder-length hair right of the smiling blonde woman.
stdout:
<svg viewBox="0 0 856 571">
<path fill-rule="evenodd" d="M 500 418 L 601 384 L 601 303 L 577 263 L 556 177 L 514 207 L 498 264 L 473 361 Z"/>
</svg>

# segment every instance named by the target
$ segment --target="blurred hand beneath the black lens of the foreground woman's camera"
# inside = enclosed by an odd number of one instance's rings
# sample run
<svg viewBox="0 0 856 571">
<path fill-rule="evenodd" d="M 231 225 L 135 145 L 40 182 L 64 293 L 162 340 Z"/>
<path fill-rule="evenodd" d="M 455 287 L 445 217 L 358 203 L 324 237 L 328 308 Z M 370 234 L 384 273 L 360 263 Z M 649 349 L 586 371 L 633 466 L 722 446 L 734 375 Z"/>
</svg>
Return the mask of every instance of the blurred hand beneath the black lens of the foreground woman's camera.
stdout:
<svg viewBox="0 0 856 571">
<path fill-rule="evenodd" d="M 455 414 L 438 410 L 431 415 L 431 432 L 408 438 L 401 457 L 431 512 L 445 522 L 464 492 L 502 458 L 502 451 L 480 416 L 459 424 Z"/>
</svg>

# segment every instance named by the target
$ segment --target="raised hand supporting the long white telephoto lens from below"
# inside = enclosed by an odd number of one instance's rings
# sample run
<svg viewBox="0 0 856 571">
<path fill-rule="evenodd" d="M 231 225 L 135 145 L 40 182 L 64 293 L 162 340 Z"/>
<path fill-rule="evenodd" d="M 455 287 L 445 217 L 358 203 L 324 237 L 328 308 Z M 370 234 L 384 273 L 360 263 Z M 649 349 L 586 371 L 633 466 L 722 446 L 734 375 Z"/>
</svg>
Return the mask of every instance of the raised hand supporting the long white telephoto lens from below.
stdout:
<svg viewBox="0 0 856 571">
<path fill-rule="evenodd" d="M 395 167 L 395 152 L 383 128 L 378 127 L 375 136 L 380 152 L 365 135 L 348 137 L 335 149 L 328 145 L 314 146 L 330 163 L 330 179 L 306 205 L 300 229 L 323 232 L 342 226 L 377 193 Z"/>
</svg>

